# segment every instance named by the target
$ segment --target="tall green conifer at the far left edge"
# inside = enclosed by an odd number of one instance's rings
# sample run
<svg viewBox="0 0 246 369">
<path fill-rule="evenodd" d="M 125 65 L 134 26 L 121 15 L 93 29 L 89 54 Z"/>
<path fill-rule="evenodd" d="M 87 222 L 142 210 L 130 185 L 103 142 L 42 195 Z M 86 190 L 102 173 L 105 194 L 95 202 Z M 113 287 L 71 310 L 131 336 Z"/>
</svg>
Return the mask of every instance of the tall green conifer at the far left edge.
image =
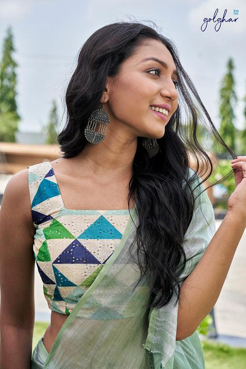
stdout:
<svg viewBox="0 0 246 369">
<path fill-rule="evenodd" d="M 13 34 L 8 27 L 3 40 L 2 58 L 0 61 L 0 141 L 15 141 L 20 116 L 16 104 L 16 68 L 13 59 Z"/>
</svg>

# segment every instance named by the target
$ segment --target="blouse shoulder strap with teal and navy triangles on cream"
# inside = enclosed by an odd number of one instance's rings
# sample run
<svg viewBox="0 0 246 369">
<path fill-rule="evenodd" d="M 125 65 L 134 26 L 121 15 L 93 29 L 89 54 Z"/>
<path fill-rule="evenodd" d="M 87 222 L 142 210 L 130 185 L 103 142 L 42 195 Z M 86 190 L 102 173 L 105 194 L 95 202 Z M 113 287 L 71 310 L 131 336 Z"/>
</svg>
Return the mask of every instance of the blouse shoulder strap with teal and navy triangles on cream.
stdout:
<svg viewBox="0 0 246 369">
<path fill-rule="evenodd" d="M 62 208 L 61 196 L 49 161 L 28 167 L 32 221 L 35 227 Z"/>
</svg>

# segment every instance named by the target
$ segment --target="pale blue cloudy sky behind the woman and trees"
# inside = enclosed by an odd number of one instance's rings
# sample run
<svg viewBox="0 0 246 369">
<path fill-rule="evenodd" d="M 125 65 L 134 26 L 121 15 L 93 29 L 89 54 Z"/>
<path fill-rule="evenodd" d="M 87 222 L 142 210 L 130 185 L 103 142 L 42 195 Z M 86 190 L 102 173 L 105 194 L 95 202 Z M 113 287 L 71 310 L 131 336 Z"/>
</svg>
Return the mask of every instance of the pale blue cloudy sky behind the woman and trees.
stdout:
<svg viewBox="0 0 246 369">
<path fill-rule="evenodd" d="M 213 17 L 215 11 L 215 22 Z M 216 19 L 238 18 L 219 24 Z M 233 15 L 233 10 L 239 10 Z M 204 18 L 212 18 L 202 31 Z M 55 99 L 65 122 L 64 95 L 83 43 L 97 29 L 118 21 L 150 25 L 177 46 L 212 121 L 219 127 L 219 89 L 229 58 L 234 61 L 234 124 L 242 129 L 246 94 L 245 0 L 0 0 L 0 57 L 3 38 L 12 27 L 17 68 L 17 105 L 21 132 L 40 132 Z M 215 30 L 217 25 L 217 31 Z M 203 25 L 204 29 L 205 25 Z"/>
</svg>

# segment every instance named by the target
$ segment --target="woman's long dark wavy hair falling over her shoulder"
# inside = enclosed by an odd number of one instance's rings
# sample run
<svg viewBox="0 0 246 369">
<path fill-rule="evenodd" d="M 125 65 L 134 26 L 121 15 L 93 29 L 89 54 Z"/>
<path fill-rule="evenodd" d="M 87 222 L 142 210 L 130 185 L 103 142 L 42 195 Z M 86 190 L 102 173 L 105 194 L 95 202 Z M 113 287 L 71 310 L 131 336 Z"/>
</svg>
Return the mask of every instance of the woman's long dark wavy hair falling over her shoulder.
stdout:
<svg viewBox="0 0 246 369">
<path fill-rule="evenodd" d="M 210 129 L 213 139 L 223 145 L 233 158 L 236 157 L 216 130 L 181 65 L 173 41 L 153 27 L 138 22 L 117 22 L 95 31 L 83 44 L 76 69 L 68 83 L 65 94 L 66 124 L 58 135 L 58 143 L 63 158 L 81 153 L 88 143 L 84 129 L 92 111 L 100 104 L 107 77 L 116 76 L 122 62 L 149 39 L 161 41 L 173 57 L 178 71 L 179 104 L 165 127 L 165 134 L 157 139 L 159 151 L 154 157 L 149 157 L 142 146 L 143 137 L 137 137 L 127 201 L 129 209 L 130 200 L 133 200 L 139 219 L 134 241 L 137 243 L 140 280 L 147 273 L 152 291 L 149 307 L 160 308 L 170 301 L 173 293 L 176 293 L 177 301 L 179 299 L 180 285 L 176 270 L 181 259 L 184 263 L 186 261 L 182 245 L 194 211 L 193 191 L 197 186 L 192 191 L 191 184 L 199 171 L 199 162 L 206 168 L 205 173 L 210 168 L 202 183 L 213 172 L 213 162 L 197 139 L 198 123 L 206 127 L 207 132 Z M 190 179 L 187 178 L 189 154 L 197 162 L 196 173 Z M 227 179 L 232 173 L 233 170 L 214 184 Z M 140 263 L 140 251 L 145 256 L 145 265 Z M 157 292 L 160 297 L 153 303 Z"/>
</svg>

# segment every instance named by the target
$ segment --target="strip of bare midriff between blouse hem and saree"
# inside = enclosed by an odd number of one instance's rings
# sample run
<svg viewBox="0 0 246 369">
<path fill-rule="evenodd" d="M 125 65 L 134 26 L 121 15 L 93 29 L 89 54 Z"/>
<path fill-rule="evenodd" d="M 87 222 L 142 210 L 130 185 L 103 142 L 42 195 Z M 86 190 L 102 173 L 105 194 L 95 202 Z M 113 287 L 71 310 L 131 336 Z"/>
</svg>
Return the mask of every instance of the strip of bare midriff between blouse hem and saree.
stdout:
<svg viewBox="0 0 246 369">
<path fill-rule="evenodd" d="M 44 347 L 48 352 L 50 352 L 53 342 L 67 317 L 68 315 L 66 314 L 60 314 L 56 311 L 51 311 L 50 324 L 48 325 L 43 338 Z"/>
</svg>

